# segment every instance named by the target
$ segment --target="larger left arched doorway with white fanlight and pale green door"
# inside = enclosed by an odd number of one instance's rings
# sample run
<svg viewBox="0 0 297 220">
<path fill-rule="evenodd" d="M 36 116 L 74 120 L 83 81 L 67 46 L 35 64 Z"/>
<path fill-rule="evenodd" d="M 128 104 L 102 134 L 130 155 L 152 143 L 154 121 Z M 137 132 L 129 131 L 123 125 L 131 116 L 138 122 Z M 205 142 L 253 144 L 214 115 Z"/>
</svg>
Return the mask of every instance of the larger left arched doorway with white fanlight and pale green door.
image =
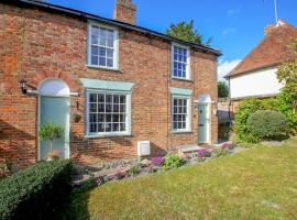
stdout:
<svg viewBox="0 0 297 220">
<path fill-rule="evenodd" d="M 46 79 L 38 87 L 38 128 L 48 122 L 63 128 L 63 135 L 54 140 L 52 148 L 61 158 L 69 158 L 69 87 L 59 79 Z M 46 160 L 50 153 L 48 141 L 38 139 L 38 160 Z"/>
</svg>

